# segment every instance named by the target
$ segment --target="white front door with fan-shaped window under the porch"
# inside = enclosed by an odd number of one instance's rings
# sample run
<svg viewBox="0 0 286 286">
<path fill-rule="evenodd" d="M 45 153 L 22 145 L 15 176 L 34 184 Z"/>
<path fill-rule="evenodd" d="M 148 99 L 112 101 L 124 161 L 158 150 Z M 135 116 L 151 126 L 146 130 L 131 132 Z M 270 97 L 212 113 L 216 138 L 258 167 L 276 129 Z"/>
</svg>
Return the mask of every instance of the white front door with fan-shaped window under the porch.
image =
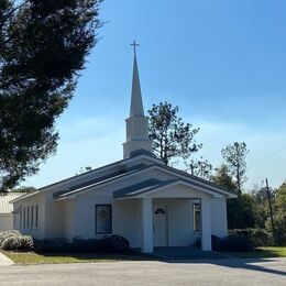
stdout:
<svg viewBox="0 0 286 286">
<path fill-rule="evenodd" d="M 154 246 L 168 246 L 168 213 L 165 205 L 154 205 L 153 234 Z"/>
</svg>

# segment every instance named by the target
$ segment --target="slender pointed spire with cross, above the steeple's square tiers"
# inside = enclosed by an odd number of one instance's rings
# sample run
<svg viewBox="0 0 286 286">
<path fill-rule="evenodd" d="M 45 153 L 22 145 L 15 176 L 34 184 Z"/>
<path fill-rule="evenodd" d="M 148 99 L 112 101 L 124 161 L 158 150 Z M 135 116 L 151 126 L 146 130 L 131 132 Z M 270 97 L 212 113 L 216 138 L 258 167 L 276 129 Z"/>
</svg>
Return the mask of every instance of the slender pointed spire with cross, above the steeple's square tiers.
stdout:
<svg viewBox="0 0 286 286">
<path fill-rule="evenodd" d="M 138 72 L 138 58 L 136 58 L 136 46 L 139 44 L 133 41 L 134 46 L 134 62 L 133 62 L 133 78 L 132 78 L 132 91 L 131 91 L 131 106 L 130 106 L 130 117 L 144 117 L 144 109 L 142 103 L 140 79 Z"/>
</svg>

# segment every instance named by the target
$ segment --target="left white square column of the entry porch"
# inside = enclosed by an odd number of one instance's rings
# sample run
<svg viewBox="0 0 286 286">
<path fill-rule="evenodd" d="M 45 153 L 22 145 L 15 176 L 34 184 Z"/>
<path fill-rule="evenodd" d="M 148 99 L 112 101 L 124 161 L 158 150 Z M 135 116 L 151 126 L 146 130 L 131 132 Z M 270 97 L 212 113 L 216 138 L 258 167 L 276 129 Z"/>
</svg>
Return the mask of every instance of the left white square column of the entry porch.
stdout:
<svg viewBox="0 0 286 286">
<path fill-rule="evenodd" d="M 152 198 L 142 199 L 142 248 L 143 253 L 153 252 Z"/>
</svg>

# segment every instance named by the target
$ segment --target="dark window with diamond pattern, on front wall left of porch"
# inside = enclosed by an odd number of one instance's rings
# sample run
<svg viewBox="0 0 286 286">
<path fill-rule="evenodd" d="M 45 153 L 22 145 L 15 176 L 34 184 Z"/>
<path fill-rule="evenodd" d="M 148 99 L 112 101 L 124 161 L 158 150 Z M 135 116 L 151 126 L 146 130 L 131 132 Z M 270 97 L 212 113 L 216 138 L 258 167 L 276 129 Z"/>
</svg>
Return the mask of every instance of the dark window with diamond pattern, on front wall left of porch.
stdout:
<svg viewBox="0 0 286 286">
<path fill-rule="evenodd" d="M 112 232 L 111 205 L 96 205 L 96 233 L 108 234 Z"/>
</svg>

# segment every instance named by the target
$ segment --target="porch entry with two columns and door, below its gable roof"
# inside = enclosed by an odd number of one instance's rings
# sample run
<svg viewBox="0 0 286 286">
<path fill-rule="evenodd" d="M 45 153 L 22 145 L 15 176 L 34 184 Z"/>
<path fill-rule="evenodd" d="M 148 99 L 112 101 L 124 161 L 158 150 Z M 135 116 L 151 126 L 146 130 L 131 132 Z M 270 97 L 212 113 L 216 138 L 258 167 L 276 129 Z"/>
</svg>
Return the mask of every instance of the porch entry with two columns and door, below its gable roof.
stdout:
<svg viewBox="0 0 286 286">
<path fill-rule="evenodd" d="M 200 206 L 201 229 L 194 229 L 194 205 Z M 141 228 L 143 253 L 154 248 L 190 246 L 201 239 L 201 250 L 211 251 L 209 198 L 142 198 Z"/>
</svg>

